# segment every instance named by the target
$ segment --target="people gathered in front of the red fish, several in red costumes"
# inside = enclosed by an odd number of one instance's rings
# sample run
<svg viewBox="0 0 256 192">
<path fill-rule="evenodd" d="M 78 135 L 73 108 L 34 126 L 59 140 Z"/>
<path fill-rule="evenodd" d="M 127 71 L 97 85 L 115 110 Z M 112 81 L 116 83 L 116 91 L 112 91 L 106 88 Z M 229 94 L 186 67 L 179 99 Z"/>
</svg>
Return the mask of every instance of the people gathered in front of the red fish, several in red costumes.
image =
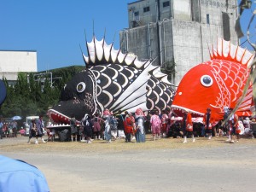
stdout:
<svg viewBox="0 0 256 192">
<path fill-rule="evenodd" d="M 189 111 L 184 111 L 183 119 L 176 120 L 170 126 L 168 137 L 183 137 L 183 143 L 187 143 L 187 137 L 192 137 L 192 142 L 195 142 L 195 137 L 207 137 L 209 140 L 212 136 L 228 137 L 226 142 L 235 143 L 239 141 L 241 135 L 252 137 L 252 125 L 255 124 L 255 119 L 249 117 L 238 118 L 236 113 L 232 113 L 232 108 L 227 108 L 224 113 L 224 119 L 218 123 L 214 122 L 211 117 L 211 108 L 207 108 L 202 122 L 192 122 Z"/>
</svg>

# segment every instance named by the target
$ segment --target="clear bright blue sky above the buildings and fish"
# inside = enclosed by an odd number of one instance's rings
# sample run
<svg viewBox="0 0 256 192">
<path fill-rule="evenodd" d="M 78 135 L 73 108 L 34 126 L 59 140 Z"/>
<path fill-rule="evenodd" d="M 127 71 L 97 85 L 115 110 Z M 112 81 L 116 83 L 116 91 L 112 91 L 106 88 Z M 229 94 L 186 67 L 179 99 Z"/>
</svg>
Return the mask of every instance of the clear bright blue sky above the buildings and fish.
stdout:
<svg viewBox="0 0 256 192">
<path fill-rule="evenodd" d="M 86 53 L 84 30 L 90 41 L 94 20 L 96 38 L 103 38 L 106 29 L 107 43 L 115 36 L 114 48 L 119 49 L 119 31 L 128 27 L 131 2 L 135 0 L 0 0 L 0 49 L 36 50 L 38 71 L 84 65 L 79 47 Z"/>
</svg>

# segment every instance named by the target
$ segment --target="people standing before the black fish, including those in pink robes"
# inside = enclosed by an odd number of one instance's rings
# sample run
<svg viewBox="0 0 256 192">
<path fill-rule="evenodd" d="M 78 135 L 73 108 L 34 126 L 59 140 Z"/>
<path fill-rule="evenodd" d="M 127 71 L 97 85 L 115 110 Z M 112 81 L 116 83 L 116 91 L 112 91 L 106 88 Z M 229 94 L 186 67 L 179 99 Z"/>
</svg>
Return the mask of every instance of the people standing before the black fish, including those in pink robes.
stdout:
<svg viewBox="0 0 256 192">
<path fill-rule="evenodd" d="M 92 117 L 85 114 L 79 126 L 76 126 L 76 119 L 71 118 L 71 141 L 84 140 L 85 143 L 91 143 L 93 139 L 104 139 L 111 143 L 112 140 L 124 137 L 126 143 L 131 143 L 133 139 L 137 143 L 144 143 L 146 132 L 152 133 L 153 140 L 166 137 L 171 117 L 171 110 L 144 113 L 141 108 L 137 108 L 135 113 L 125 111 L 113 114 L 105 109 L 102 118 L 99 114 Z"/>
</svg>

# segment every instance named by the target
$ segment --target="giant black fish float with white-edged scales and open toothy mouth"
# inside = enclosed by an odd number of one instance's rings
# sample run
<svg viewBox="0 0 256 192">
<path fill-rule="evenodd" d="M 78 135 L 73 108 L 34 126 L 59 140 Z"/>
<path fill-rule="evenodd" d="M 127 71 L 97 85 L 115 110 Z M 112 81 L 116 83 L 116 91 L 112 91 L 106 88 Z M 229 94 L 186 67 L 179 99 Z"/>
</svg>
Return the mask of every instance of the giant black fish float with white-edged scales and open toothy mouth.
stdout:
<svg viewBox="0 0 256 192">
<path fill-rule="evenodd" d="M 102 114 L 105 108 L 119 113 L 171 107 L 175 90 L 154 60 L 138 61 L 136 55 L 113 49 L 104 38 L 93 37 L 86 44 L 85 69 L 65 85 L 60 102 L 49 109 L 55 122 L 68 123 L 72 115 L 82 119 L 85 113 Z"/>
</svg>

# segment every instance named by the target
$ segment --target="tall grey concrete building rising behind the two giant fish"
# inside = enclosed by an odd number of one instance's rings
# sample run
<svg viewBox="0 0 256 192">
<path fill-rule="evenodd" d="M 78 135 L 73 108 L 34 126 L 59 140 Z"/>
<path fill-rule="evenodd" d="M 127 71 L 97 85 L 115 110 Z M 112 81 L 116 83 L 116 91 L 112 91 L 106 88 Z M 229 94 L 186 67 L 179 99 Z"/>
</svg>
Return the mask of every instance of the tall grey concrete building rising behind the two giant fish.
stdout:
<svg viewBox="0 0 256 192">
<path fill-rule="evenodd" d="M 129 28 L 119 32 L 123 53 L 155 58 L 174 69 L 179 84 L 191 67 L 209 60 L 208 46 L 218 38 L 238 44 L 237 0 L 140 0 L 128 3 Z"/>
</svg>

